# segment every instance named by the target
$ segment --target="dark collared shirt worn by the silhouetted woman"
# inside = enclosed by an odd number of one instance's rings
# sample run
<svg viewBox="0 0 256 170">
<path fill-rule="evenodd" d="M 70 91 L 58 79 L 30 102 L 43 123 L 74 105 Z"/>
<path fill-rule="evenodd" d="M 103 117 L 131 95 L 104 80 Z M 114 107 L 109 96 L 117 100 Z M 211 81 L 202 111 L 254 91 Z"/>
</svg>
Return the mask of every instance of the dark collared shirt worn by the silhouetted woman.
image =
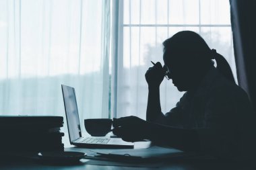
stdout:
<svg viewBox="0 0 256 170">
<path fill-rule="evenodd" d="M 255 114 L 247 93 L 213 67 L 196 91 L 187 91 L 162 124 L 195 129 L 201 151 L 225 159 L 255 155 Z"/>
</svg>

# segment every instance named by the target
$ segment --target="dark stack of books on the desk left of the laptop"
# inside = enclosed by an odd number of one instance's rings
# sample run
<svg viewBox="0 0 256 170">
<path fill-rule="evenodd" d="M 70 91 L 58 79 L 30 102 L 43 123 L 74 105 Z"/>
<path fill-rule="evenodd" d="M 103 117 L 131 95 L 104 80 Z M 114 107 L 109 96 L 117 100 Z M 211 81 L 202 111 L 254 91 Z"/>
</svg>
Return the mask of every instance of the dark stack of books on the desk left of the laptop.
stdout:
<svg viewBox="0 0 256 170">
<path fill-rule="evenodd" d="M 0 153 L 64 151 L 61 116 L 0 116 Z"/>
</svg>

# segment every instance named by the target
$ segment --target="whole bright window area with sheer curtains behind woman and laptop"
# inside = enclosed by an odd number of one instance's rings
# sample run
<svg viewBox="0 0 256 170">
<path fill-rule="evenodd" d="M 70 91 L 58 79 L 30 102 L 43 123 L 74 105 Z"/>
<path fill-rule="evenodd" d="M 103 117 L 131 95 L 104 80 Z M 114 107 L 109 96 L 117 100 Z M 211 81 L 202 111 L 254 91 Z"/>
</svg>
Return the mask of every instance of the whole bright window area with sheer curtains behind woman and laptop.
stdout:
<svg viewBox="0 0 256 170">
<path fill-rule="evenodd" d="M 0 114 L 64 116 L 66 84 L 81 120 L 108 117 L 110 105 L 111 116 L 146 118 L 144 74 L 151 60 L 163 64 L 162 42 L 181 30 L 203 36 L 236 75 L 229 11 L 228 0 L 1 0 Z M 183 93 L 171 80 L 160 88 L 167 112 Z"/>
</svg>

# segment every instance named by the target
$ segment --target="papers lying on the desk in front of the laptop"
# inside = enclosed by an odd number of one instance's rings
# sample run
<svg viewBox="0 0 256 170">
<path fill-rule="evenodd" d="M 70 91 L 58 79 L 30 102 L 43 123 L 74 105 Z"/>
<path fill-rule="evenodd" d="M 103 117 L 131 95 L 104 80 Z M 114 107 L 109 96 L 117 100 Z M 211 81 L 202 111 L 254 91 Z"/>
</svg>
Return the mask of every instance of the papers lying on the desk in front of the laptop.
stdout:
<svg viewBox="0 0 256 170">
<path fill-rule="evenodd" d="M 123 167 L 160 167 L 166 159 L 183 157 L 183 151 L 174 148 L 151 146 L 137 149 L 90 149 L 66 148 L 66 151 L 87 153 L 87 165 L 106 165 Z"/>
</svg>

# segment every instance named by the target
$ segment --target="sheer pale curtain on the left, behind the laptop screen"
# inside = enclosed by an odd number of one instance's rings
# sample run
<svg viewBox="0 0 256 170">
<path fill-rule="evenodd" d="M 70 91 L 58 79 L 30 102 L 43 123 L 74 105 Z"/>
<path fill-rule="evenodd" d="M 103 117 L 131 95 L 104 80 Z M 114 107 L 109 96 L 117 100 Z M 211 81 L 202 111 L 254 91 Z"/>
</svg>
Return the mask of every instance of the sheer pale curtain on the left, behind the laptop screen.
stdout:
<svg viewBox="0 0 256 170">
<path fill-rule="evenodd" d="M 0 1 L 0 114 L 65 116 L 75 87 L 80 120 L 108 118 L 110 1 Z"/>
</svg>

